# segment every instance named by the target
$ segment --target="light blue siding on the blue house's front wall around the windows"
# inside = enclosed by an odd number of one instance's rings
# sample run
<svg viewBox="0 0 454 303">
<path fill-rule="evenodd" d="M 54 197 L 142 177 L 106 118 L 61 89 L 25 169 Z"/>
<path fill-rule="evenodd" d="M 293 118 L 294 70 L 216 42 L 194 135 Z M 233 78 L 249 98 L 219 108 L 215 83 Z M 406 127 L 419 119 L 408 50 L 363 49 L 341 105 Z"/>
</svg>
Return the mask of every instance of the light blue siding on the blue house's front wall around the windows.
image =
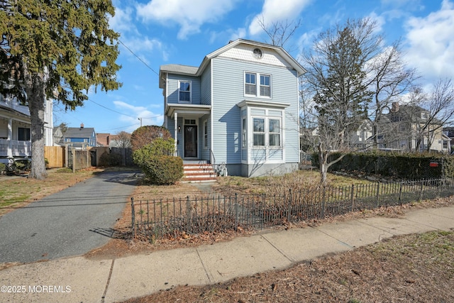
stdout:
<svg viewBox="0 0 454 303">
<path fill-rule="evenodd" d="M 228 60 L 217 57 L 211 60 L 213 68 L 212 116 L 214 120 L 213 149 L 216 162 L 240 163 L 241 158 L 241 120 L 240 109 L 236 104 L 247 99 L 250 101 L 272 101 L 290 104 L 284 109 L 283 142 L 286 162 L 299 162 L 299 119 L 298 86 L 294 70 L 283 67 L 257 65 L 252 62 Z M 244 96 L 244 72 L 258 72 L 272 77 L 272 98 Z M 255 109 L 253 109 L 255 111 Z M 262 110 L 255 111 L 261 114 Z M 274 116 L 275 112 L 272 112 Z M 259 150 L 253 150 L 253 159 L 263 159 Z M 269 160 L 282 159 L 282 153 L 273 153 Z"/>
</svg>

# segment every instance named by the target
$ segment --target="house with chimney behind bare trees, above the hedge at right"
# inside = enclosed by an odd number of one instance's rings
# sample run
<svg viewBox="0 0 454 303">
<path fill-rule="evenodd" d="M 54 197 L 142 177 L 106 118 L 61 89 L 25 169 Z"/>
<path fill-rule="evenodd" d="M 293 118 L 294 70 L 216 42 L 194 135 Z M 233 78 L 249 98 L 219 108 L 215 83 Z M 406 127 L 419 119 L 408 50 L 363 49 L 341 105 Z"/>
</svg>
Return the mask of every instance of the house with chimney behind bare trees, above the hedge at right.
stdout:
<svg viewBox="0 0 454 303">
<path fill-rule="evenodd" d="M 449 153 L 450 138 L 443 133 L 441 121 L 433 119 L 426 109 L 420 106 L 399 105 L 394 102 L 389 114 L 385 115 L 389 125 L 383 125 L 385 148 L 399 150 L 438 151 Z M 386 129 L 385 129 L 386 128 Z"/>
</svg>

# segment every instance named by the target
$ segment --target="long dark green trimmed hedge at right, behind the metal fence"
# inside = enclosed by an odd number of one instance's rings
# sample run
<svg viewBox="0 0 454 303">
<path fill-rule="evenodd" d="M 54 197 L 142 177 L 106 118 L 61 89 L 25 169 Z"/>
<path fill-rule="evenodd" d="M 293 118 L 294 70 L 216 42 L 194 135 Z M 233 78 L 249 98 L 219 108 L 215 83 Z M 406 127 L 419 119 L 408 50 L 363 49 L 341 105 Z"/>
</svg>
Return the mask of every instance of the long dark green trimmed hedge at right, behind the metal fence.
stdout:
<svg viewBox="0 0 454 303">
<path fill-rule="evenodd" d="M 341 155 L 343 154 L 331 154 L 328 162 Z M 316 153 L 312 165 L 319 167 L 319 155 Z M 342 160 L 331 165 L 329 171 L 358 172 L 405 180 L 454 177 L 454 159 L 448 155 L 427 153 L 348 153 Z"/>
</svg>

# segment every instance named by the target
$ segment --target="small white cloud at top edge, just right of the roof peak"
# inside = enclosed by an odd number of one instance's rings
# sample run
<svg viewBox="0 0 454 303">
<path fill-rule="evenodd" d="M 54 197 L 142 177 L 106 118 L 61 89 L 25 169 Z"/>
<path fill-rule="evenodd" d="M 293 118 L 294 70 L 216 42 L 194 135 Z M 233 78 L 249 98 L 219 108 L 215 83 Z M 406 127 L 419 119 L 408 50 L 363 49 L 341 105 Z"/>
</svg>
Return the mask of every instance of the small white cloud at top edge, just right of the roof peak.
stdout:
<svg viewBox="0 0 454 303">
<path fill-rule="evenodd" d="M 249 33 L 257 35 L 262 31 L 260 21 L 264 21 L 265 25 L 293 19 L 299 16 L 299 13 L 311 3 L 311 0 L 265 0 L 262 7 L 262 12 L 253 18 L 249 26 Z"/>
</svg>

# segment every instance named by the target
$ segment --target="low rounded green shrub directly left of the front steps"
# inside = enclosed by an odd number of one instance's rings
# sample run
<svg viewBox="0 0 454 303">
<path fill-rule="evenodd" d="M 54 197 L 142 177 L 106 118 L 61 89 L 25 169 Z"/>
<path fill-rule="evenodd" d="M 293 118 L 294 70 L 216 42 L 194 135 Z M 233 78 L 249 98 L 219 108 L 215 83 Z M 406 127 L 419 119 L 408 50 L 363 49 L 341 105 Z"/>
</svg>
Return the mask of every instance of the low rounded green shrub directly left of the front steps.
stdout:
<svg viewBox="0 0 454 303">
<path fill-rule="evenodd" d="M 175 184 L 183 177 L 183 159 L 171 155 L 150 157 L 140 167 L 152 184 Z"/>
</svg>

